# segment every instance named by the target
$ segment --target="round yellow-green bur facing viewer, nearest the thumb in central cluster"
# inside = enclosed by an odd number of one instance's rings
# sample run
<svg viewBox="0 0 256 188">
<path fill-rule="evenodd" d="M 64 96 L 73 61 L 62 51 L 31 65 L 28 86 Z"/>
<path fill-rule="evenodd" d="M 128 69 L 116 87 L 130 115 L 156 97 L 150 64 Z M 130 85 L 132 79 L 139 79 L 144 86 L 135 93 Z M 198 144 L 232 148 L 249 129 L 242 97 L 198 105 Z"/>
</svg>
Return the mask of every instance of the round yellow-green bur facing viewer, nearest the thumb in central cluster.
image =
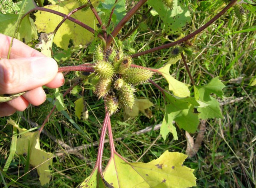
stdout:
<svg viewBox="0 0 256 188">
<path fill-rule="evenodd" d="M 112 63 L 105 60 L 97 61 L 94 70 L 97 75 L 103 79 L 111 79 L 114 74 L 114 68 Z"/>
</svg>

